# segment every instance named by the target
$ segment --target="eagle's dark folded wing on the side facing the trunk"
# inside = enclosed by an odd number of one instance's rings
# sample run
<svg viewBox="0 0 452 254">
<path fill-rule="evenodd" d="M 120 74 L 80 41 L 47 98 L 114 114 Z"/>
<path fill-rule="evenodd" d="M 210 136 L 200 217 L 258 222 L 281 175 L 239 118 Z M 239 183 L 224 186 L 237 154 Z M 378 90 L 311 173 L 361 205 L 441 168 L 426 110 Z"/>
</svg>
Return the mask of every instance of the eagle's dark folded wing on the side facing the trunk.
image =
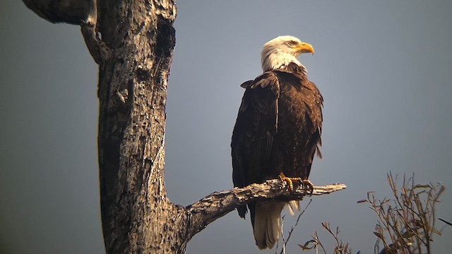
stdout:
<svg viewBox="0 0 452 254">
<path fill-rule="evenodd" d="M 261 183 L 273 136 L 278 131 L 278 75 L 268 71 L 242 84 L 246 88 L 232 133 L 232 179 L 235 187 Z M 244 217 L 246 206 L 239 207 Z"/>
</svg>

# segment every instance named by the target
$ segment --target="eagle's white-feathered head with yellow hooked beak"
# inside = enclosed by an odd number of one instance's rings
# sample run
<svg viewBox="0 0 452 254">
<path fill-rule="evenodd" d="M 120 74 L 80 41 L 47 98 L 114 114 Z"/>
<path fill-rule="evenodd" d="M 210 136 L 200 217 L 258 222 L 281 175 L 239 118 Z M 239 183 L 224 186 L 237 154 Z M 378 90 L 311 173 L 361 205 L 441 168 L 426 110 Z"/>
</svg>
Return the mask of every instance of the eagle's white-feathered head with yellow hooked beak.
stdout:
<svg viewBox="0 0 452 254">
<path fill-rule="evenodd" d="M 263 45 L 261 63 L 263 71 L 285 68 L 289 63 L 296 63 L 304 68 L 297 57 L 302 53 L 314 54 L 311 44 L 300 41 L 298 38 L 285 35 L 276 37 Z"/>
</svg>

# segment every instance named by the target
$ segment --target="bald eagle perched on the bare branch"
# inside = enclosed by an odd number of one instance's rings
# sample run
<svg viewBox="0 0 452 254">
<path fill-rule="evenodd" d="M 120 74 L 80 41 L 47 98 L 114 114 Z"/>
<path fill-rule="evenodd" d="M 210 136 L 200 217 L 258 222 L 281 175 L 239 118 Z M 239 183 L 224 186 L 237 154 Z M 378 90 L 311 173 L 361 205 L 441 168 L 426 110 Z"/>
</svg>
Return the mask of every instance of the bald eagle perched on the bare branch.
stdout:
<svg viewBox="0 0 452 254">
<path fill-rule="evenodd" d="M 321 145 L 323 97 L 297 60 L 314 48 L 292 36 L 280 36 L 262 49 L 263 73 L 241 86 L 246 90 L 232 133 L 232 180 L 235 187 L 281 177 L 289 188 L 312 188 L 308 180 Z M 256 245 L 273 248 L 280 237 L 280 213 L 287 202 L 248 205 Z M 290 201 L 290 210 L 298 201 Z M 244 218 L 246 206 L 239 207 Z"/>
</svg>

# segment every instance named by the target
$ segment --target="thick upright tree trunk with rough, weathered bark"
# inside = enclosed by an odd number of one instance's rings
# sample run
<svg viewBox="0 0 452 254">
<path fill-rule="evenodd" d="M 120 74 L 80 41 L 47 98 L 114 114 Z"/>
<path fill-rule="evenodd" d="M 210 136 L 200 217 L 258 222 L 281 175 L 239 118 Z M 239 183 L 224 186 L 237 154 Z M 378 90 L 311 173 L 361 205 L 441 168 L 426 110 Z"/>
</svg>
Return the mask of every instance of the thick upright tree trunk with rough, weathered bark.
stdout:
<svg viewBox="0 0 452 254">
<path fill-rule="evenodd" d="M 164 185 L 174 1 L 100 1 L 99 165 L 107 253 L 183 253 L 188 217 Z M 176 251 L 174 251 L 176 250 Z"/>
</svg>

